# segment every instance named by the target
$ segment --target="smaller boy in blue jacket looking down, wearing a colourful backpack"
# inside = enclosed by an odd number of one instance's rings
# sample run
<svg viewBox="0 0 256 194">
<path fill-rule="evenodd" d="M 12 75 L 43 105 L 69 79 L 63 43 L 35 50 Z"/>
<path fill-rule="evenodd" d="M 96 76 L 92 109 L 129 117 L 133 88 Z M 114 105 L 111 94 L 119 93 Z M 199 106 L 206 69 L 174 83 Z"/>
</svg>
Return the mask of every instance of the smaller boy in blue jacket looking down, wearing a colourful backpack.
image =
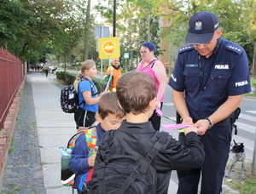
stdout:
<svg viewBox="0 0 256 194">
<path fill-rule="evenodd" d="M 102 135 L 106 131 L 119 128 L 124 117 L 125 111 L 119 107 L 116 94 L 107 93 L 102 95 L 99 100 L 98 114 L 96 114 L 98 124 L 95 127 L 91 127 L 96 128 L 96 147 L 99 146 Z M 90 153 L 88 147 L 89 142 L 86 142 L 85 133 L 84 135 L 79 135 L 69 163 L 69 169 L 76 174 L 74 184 L 79 194 L 82 193 L 84 184 L 87 184 L 91 179 L 96 158 L 96 151 Z"/>
</svg>

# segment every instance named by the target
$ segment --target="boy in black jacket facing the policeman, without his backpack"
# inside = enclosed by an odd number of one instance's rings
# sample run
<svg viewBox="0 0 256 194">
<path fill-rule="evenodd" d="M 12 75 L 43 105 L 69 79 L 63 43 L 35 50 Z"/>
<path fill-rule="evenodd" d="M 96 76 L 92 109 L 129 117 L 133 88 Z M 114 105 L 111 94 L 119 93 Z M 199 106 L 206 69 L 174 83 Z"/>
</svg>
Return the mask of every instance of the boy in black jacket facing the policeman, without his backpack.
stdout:
<svg viewBox="0 0 256 194">
<path fill-rule="evenodd" d="M 157 136 L 160 133 L 148 122 L 155 109 L 154 80 L 142 71 L 127 72 L 119 78 L 116 94 L 119 106 L 126 112 L 126 120 L 113 133 L 111 154 L 145 157 L 158 140 Z M 184 134 L 187 147 L 180 145 L 172 135 L 169 135 L 151 163 L 157 173 L 156 193 L 168 192 L 172 169 L 199 168 L 203 163 L 205 153 L 196 128 L 185 128 Z M 100 145 L 94 169 L 96 170 L 105 159 L 105 152 Z"/>
</svg>

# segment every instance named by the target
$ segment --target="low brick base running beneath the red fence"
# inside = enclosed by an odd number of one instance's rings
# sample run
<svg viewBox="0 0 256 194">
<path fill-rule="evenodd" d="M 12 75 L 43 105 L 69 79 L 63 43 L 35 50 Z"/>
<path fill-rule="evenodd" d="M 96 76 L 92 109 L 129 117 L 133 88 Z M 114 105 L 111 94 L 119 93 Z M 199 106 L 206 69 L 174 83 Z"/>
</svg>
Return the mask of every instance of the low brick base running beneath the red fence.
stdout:
<svg viewBox="0 0 256 194">
<path fill-rule="evenodd" d="M 4 120 L 3 128 L 0 129 L 0 191 L 3 188 L 3 174 L 9 156 L 9 145 L 13 137 L 13 132 L 16 123 L 16 117 L 20 108 L 20 101 L 22 98 L 23 88 L 26 82 L 26 76 L 23 77 L 20 87 L 15 94 L 12 105 L 9 108 L 9 113 Z"/>
</svg>

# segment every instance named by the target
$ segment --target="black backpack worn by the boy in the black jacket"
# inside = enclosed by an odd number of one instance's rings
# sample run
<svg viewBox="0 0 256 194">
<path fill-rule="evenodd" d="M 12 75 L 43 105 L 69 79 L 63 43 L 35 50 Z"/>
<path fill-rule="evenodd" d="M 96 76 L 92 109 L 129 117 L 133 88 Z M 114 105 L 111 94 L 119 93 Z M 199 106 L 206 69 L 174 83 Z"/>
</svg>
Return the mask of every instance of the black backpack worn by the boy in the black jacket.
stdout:
<svg viewBox="0 0 256 194">
<path fill-rule="evenodd" d="M 157 174 L 151 165 L 154 157 L 166 141 L 168 133 L 160 132 L 159 138 L 146 157 L 141 155 L 111 154 L 109 142 L 113 140 L 115 130 L 107 131 L 106 139 L 101 144 L 106 159 L 94 169 L 92 180 L 86 185 L 83 193 L 156 193 Z"/>
</svg>

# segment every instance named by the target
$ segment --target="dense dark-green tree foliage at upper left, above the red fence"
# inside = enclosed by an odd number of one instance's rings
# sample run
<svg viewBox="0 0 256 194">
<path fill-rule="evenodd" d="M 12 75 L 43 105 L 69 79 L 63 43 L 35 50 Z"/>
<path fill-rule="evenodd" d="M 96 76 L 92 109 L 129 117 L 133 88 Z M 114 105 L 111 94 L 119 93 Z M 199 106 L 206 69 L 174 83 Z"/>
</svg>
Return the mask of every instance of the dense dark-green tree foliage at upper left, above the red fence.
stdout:
<svg viewBox="0 0 256 194">
<path fill-rule="evenodd" d="M 45 47 L 70 57 L 80 37 L 84 37 L 80 33 L 84 30 L 86 13 L 82 0 L 1 0 L 0 3 L 3 13 L 0 43 L 22 60 L 45 58 Z"/>
</svg>

